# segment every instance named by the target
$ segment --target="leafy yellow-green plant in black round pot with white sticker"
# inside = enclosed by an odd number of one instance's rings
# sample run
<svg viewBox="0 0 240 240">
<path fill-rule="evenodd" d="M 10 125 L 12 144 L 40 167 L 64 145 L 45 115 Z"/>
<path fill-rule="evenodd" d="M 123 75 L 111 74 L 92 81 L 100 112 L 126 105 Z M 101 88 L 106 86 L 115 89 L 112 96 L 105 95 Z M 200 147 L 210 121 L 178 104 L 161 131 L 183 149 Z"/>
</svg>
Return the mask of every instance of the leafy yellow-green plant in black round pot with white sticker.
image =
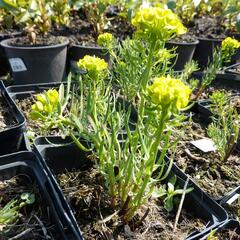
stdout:
<svg viewBox="0 0 240 240">
<path fill-rule="evenodd" d="M 51 29 L 49 2 L 5 2 L 17 23 L 24 23 L 27 37 L 1 42 L 15 84 L 60 82 L 65 77 L 68 40 L 48 35 Z M 40 67 L 41 66 L 41 67 Z"/>
</svg>

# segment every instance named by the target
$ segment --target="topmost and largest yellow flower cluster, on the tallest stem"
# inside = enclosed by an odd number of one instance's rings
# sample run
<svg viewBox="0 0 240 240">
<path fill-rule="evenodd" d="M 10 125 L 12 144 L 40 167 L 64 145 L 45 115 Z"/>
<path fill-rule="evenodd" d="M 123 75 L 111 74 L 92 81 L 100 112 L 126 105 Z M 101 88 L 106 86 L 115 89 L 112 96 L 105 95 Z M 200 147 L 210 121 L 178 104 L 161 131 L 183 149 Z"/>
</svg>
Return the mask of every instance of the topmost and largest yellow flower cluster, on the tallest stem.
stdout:
<svg viewBox="0 0 240 240">
<path fill-rule="evenodd" d="M 138 36 L 161 41 L 167 41 L 187 31 L 175 13 L 161 7 L 140 9 L 133 17 L 132 25 L 136 27 Z"/>
</svg>

